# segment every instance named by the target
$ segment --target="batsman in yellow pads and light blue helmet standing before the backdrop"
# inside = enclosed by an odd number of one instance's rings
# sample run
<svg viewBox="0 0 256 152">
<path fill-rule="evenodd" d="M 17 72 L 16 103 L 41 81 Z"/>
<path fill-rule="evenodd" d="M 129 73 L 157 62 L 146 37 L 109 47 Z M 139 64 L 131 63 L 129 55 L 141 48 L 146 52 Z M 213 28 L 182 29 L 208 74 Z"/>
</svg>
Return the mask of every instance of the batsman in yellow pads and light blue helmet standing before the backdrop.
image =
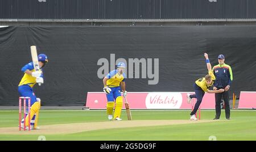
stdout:
<svg viewBox="0 0 256 152">
<path fill-rule="evenodd" d="M 123 91 L 123 96 L 127 95 L 127 91 L 125 91 L 125 64 L 123 62 L 119 62 L 117 64 L 117 69 L 110 71 L 106 77 L 103 79 L 103 91 L 106 93 L 106 97 L 108 99 L 108 103 L 106 105 L 108 119 L 113 119 L 113 108 L 115 101 L 115 111 L 114 111 L 114 120 L 122 120 L 121 110 L 123 107 L 123 98 L 121 96 L 121 88 Z M 120 87 L 121 85 L 121 87 Z"/>
</svg>

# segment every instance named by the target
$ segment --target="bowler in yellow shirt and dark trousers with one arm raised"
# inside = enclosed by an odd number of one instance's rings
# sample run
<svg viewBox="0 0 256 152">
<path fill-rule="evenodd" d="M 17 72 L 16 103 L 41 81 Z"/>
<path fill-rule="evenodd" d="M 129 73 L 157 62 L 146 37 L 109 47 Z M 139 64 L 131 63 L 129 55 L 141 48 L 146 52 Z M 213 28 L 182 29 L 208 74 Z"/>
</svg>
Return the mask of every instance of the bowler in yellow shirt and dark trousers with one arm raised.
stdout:
<svg viewBox="0 0 256 152">
<path fill-rule="evenodd" d="M 193 95 L 187 94 L 188 103 L 191 103 L 192 98 L 197 99 L 196 104 L 195 104 L 195 108 L 190 113 L 190 120 L 197 120 L 195 114 L 197 112 L 197 109 L 199 108 L 199 105 L 201 104 L 201 102 L 203 100 L 205 92 L 208 92 L 208 93 L 224 92 L 224 89 L 220 89 L 220 90 L 209 90 L 208 89 L 210 86 L 213 85 L 214 80 L 215 80 L 215 76 L 214 76 L 213 71 L 212 71 L 212 65 L 210 65 L 210 60 L 208 58 L 208 54 L 204 53 L 204 57 L 206 59 L 205 62 L 207 63 L 208 74 L 205 75 L 204 78 L 200 78 L 194 83 L 193 87 L 194 87 L 194 90 L 195 90 L 196 94 L 193 94 Z"/>
</svg>

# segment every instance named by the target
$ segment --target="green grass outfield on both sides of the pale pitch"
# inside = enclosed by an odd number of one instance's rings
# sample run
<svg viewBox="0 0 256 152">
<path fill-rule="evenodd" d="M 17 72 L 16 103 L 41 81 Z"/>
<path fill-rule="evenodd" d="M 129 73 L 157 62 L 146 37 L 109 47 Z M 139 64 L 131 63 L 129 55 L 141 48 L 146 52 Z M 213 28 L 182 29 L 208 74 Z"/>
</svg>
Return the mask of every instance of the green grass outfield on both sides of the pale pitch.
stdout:
<svg viewBox="0 0 256 152">
<path fill-rule="evenodd" d="M 188 120 L 189 110 L 132 111 L 133 120 Z M 256 111 L 232 110 L 232 120 L 210 123 L 146 126 L 119 129 L 101 129 L 72 134 L 42 134 L 46 140 L 256 140 Z M 201 110 L 201 119 L 213 119 L 215 111 Z M 122 118 L 127 120 L 125 111 Z M 108 121 L 106 111 L 40 111 L 39 126 Z M 199 120 L 200 121 L 200 120 Z M 0 111 L 0 128 L 17 126 L 18 111 Z M 39 135 L 3 135 L 0 140 L 38 140 Z"/>
</svg>

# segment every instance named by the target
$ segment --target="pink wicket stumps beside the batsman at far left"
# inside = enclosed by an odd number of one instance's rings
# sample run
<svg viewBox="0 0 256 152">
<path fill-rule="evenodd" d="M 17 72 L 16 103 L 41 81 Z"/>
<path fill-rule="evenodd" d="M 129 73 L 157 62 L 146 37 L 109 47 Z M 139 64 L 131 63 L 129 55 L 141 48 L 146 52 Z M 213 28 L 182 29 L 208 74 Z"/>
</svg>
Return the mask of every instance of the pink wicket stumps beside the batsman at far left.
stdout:
<svg viewBox="0 0 256 152">
<path fill-rule="evenodd" d="M 22 122 L 22 99 L 23 99 L 23 111 L 24 111 L 24 122 L 23 122 L 23 130 L 26 130 L 26 100 L 28 100 L 28 130 L 30 130 L 30 104 L 31 99 L 30 97 L 19 97 L 19 130 L 21 130 L 21 122 Z"/>
</svg>

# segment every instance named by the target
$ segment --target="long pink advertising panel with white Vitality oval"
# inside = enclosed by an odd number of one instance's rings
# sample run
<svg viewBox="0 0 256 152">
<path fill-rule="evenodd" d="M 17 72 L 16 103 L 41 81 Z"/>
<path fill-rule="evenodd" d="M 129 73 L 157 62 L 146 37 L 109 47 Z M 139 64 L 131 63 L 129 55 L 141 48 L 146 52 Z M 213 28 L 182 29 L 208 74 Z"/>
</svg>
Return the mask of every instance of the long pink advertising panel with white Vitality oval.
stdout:
<svg viewBox="0 0 256 152">
<path fill-rule="evenodd" d="M 187 93 L 193 92 L 128 92 L 127 102 L 130 109 L 191 109 L 187 103 Z M 86 107 L 105 109 L 106 94 L 104 92 L 88 92 Z M 205 94 L 201 109 L 215 109 L 214 94 Z M 125 105 L 123 104 L 123 108 Z"/>
</svg>

